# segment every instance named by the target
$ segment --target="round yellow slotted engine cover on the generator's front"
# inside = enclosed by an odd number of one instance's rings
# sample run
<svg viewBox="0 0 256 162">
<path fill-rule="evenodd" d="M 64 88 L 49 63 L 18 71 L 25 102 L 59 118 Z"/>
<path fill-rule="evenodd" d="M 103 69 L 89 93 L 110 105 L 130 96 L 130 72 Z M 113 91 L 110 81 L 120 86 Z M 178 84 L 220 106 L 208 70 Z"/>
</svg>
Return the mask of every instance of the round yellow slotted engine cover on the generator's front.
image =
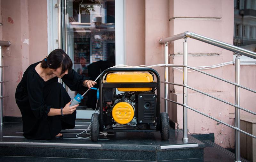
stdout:
<svg viewBox="0 0 256 162">
<path fill-rule="evenodd" d="M 113 119 L 120 124 L 126 124 L 131 122 L 133 116 L 133 107 L 127 102 L 118 102 L 112 109 Z"/>
</svg>

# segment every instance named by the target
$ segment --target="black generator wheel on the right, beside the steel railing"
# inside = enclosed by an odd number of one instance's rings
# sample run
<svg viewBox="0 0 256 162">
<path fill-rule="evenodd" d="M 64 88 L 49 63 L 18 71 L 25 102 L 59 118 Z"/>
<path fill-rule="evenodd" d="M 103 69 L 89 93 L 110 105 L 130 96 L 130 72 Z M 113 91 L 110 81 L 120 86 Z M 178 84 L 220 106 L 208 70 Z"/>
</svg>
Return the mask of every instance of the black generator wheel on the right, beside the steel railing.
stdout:
<svg viewBox="0 0 256 162">
<path fill-rule="evenodd" d="M 170 126 L 169 126 L 169 116 L 167 113 L 161 113 L 160 114 L 160 118 L 161 118 L 161 138 L 162 140 L 168 140 L 169 139 L 169 130 L 170 130 Z"/>
</svg>

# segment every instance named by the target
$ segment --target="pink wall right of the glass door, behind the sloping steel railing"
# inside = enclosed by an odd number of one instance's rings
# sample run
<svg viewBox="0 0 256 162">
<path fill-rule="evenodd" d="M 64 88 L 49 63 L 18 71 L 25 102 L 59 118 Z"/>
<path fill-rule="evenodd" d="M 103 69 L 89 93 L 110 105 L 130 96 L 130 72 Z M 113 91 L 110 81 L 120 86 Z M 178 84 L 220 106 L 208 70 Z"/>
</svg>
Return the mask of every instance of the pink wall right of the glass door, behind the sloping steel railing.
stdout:
<svg viewBox="0 0 256 162">
<path fill-rule="evenodd" d="M 169 1 L 145 1 L 145 38 L 144 33 L 139 33 L 138 28 L 144 27 L 143 8 L 134 8 L 144 1 L 126 1 L 126 62 L 131 65 L 142 63 L 141 59 L 145 55 L 145 64 L 154 65 L 164 63 L 164 45 L 159 45 L 160 38 L 172 36 L 185 31 L 192 31 L 210 38 L 233 44 L 233 21 L 234 9 L 233 0 L 169 0 Z M 200 4 L 200 5 L 198 5 Z M 168 6 L 168 7 L 167 7 Z M 155 12 L 157 11 L 157 12 Z M 140 13 L 140 15 L 138 15 Z M 137 20 L 141 18 L 141 22 Z M 141 28 L 141 26 L 143 26 Z M 131 32 L 133 31 L 134 32 Z M 136 34 L 134 34 L 136 33 Z M 133 40 L 135 42 L 132 42 Z M 145 41 L 145 54 L 139 43 Z M 206 66 L 224 63 L 233 60 L 233 53 L 200 41 L 188 39 L 188 65 Z M 132 43 L 131 43 L 132 42 Z M 182 42 L 177 40 L 169 45 L 169 63 L 182 64 Z M 141 55 L 132 52 L 140 50 Z M 129 51 L 130 50 L 130 51 Z M 138 57 L 134 62 L 134 57 Z M 140 62 L 140 63 L 138 63 Z M 256 89 L 253 83 L 255 80 L 255 66 L 241 66 L 241 84 Z M 163 68 L 155 68 L 161 79 L 164 79 Z M 170 82 L 182 84 L 182 72 L 170 68 Z M 227 65 L 220 68 L 204 70 L 218 77 L 234 81 L 234 65 Z M 234 86 L 214 79 L 198 72 L 188 73 L 188 85 L 207 92 L 220 99 L 234 103 Z M 162 86 L 161 91 L 164 92 Z M 182 87 L 170 86 L 169 98 L 182 103 Z M 188 105 L 197 110 L 211 115 L 221 121 L 234 125 L 234 107 L 200 93 L 188 90 Z M 161 94 L 163 96 L 163 93 Z M 241 106 L 256 111 L 255 94 L 241 89 Z M 250 102 L 248 102 L 248 99 Z M 164 111 L 163 101 L 161 111 Z M 241 114 L 247 114 L 241 111 Z M 170 103 L 169 116 L 176 122 L 176 128 L 182 128 L 182 107 Z M 234 131 L 220 123 L 207 117 L 188 110 L 188 132 L 190 134 L 214 133 L 215 143 L 223 147 L 234 146 Z"/>
</svg>

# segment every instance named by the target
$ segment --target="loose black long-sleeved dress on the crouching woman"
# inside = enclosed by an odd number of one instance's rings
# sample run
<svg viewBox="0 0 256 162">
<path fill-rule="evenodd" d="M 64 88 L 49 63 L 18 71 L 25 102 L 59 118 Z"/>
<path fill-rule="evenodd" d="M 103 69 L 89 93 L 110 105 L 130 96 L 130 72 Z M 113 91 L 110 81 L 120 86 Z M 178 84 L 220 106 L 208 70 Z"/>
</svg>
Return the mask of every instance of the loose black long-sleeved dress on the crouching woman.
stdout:
<svg viewBox="0 0 256 162">
<path fill-rule="evenodd" d="M 38 62 L 40 63 L 40 62 Z M 58 83 L 58 77 L 44 81 L 36 72 L 34 63 L 28 67 L 17 86 L 15 99 L 22 115 L 23 136 L 28 139 L 52 139 L 61 129 L 75 127 L 76 111 L 73 114 L 48 116 L 50 108 L 61 108 L 71 100 L 65 88 Z M 72 90 L 86 90 L 82 85 L 84 77 L 69 70 L 62 77 L 63 82 Z"/>
</svg>

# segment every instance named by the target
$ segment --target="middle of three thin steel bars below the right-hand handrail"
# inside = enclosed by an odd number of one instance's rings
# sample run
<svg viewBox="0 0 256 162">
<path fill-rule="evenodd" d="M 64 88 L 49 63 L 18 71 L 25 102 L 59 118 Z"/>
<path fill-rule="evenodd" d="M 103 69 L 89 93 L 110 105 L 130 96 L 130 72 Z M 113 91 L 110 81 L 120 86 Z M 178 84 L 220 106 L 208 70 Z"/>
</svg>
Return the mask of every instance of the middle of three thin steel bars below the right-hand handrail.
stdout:
<svg viewBox="0 0 256 162">
<path fill-rule="evenodd" d="M 214 97 L 214 96 L 212 96 L 212 95 L 210 95 L 210 94 L 208 94 L 208 93 L 202 92 L 202 91 L 197 90 L 197 89 L 195 89 L 195 88 L 192 88 L 192 87 L 190 87 L 190 86 L 188 86 L 188 85 L 181 85 L 181 84 L 177 84 L 177 83 L 170 83 L 170 82 L 163 82 L 163 81 L 162 81 L 161 83 L 167 83 L 167 84 L 171 84 L 171 85 L 178 85 L 178 86 L 187 87 L 187 88 L 189 88 L 189 89 L 192 89 L 193 91 L 199 92 L 199 93 L 204 94 L 204 95 L 206 95 L 206 96 L 209 96 L 209 97 L 211 97 L 211 98 L 213 98 L 213 99 L 217 99 L 217 100 L 219 100 L 219 101 L 221 101 L 221 102 L 224 102 L 224 103 L 226 103 L 226 104 L 228 104 L 228 105 L 230 105 L 230 106 L 237 107 L 237 108 L 239 108 L 239 109 L 241 109 L 241 110 L 244 110 L 244 111 L 246 111 L 246 112 L 248 112 L 248 113 L 251 113 L 251 114 L 253 114 L 253 115 L 256 115 L 256 113 L 254 113 L 254 112 L 252 112 L 252 111 L 250 111 L 250 110 L 247 110 L 247 109 L 245 109 L 245 108 L 243 108 L 243 107 L 234 105 L 234 104 L 232 104 L 232 103 L 230 103 L 230 102 L 228 102 L 228 101 L 225 101 L 225 100 L 223 100 L 223 99 L 220 99 L 220 98 L 218 98 L 218 97 Z"/>
</svg>

